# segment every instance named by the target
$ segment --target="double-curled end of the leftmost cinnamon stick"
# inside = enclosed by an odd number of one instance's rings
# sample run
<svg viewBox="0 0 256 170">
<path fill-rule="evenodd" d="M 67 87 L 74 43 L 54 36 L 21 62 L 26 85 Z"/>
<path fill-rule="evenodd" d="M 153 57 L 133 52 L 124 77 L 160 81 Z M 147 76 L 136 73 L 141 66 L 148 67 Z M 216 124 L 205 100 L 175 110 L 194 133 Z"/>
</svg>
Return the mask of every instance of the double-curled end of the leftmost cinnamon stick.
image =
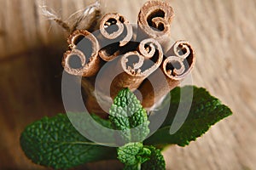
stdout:
<svg viewBox="0 0 256 170">
<path fill-rule="evenodd" d="M 62 59 L 62 65 L 67 73 L 92 77 L 96 75 L 101 66 L 98 56 L 99 43 L 89 31 L 77 30 L 68 37 L 68 50 Z"/>
</svg>

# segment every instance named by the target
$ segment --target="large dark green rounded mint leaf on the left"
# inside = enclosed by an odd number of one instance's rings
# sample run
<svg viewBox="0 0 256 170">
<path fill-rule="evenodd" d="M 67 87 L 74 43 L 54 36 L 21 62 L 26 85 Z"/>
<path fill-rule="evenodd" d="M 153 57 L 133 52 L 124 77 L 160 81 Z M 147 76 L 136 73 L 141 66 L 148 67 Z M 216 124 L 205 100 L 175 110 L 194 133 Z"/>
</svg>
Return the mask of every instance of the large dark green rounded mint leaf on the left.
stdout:
<svg viewBox="0 0 256 170">
<path fill-rule="evenodd" d="M 115 149 L 85 139 L 66 115 L 44 117 L 27 126 L 20 136 L 26 156 L 45 167 L 66 169 L 89 161 L 116 158 Z"/>
</svg>

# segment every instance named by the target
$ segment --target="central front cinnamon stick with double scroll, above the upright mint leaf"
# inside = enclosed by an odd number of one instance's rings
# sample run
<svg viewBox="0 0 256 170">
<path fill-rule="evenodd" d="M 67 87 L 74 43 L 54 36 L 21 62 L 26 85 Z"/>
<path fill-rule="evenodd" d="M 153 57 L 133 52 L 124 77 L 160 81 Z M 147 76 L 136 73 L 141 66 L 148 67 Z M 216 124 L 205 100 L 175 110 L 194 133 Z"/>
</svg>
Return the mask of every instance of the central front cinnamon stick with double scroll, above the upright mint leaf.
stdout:
<svg viewBox="0 0 256 170">
<path fill-rule="evenodd" d="M 143 80 L 152 74 L 161 64 L 163 59 L 160 43 L 153 38 L 143 40 L 137 50 L 131 50 L 118 59 L 108 62 L 106 70 L 98 76 L 101 81 L 98 87 L 102 94 L 114 98 L 122 88 L 137 89 Z M 96 85 L 97 86 L 97 85 Z"/>
</svg>

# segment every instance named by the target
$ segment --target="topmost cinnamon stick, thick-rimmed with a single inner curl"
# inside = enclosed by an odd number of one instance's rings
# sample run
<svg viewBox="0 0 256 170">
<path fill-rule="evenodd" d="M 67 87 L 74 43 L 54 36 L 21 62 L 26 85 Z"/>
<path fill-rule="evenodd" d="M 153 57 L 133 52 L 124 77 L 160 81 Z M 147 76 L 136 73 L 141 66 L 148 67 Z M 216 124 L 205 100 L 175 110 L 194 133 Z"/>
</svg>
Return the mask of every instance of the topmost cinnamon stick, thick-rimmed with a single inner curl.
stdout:
<svg viewBox="0 0 256 170">
<path fill-rule="evenodd" d="M 148 1 L 138 14 L 138 37 L 152 37 L 162 45 L 164 51 L 169 48 L 171 22 L 174 16 L 172 7 L 163 1 Z"/>
</svg>

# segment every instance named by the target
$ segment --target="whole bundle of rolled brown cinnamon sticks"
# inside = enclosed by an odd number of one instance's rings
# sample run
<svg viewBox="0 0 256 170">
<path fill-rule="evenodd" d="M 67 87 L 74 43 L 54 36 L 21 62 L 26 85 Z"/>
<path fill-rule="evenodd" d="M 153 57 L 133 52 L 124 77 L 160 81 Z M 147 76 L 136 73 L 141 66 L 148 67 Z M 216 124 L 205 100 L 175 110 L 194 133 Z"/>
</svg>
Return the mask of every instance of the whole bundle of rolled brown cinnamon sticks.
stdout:
<svg viewBox="0 0 256 170">
<path fill-rule="evenodd" d="M 195 65 L 189 42 L 172 44 L 174 13 L 169 3 L 148 1 L 137 25 L 121 14 L 105 14 L 97 31 L 77 30 L 68 37 L 62 65 L 83 77 L 84 103 L 90 113 L 107 117 L 122 88 L 134 91 L 150 111 Z"/>
</svg>

